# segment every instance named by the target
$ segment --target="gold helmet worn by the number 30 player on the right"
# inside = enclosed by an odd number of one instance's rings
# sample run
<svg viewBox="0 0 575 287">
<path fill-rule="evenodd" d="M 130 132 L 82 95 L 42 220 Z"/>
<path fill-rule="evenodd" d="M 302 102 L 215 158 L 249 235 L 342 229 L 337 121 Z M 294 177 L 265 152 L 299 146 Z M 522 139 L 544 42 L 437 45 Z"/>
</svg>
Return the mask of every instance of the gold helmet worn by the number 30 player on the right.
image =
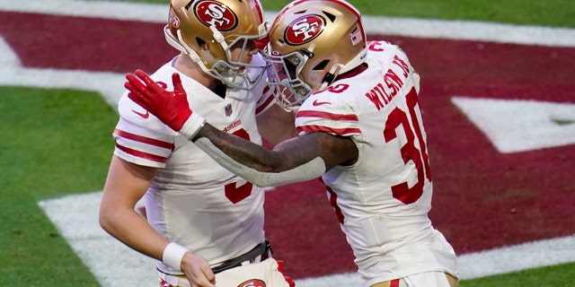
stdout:
<svg viewBox="0 0 575 287">
<path fill-rule="evenodd" d="M 296 0 L 271 25 L 264 56 L 271 64 L 268 82 L 291 109 L 365 62 L 361 15 L 343 0 Z"/>
</svg>

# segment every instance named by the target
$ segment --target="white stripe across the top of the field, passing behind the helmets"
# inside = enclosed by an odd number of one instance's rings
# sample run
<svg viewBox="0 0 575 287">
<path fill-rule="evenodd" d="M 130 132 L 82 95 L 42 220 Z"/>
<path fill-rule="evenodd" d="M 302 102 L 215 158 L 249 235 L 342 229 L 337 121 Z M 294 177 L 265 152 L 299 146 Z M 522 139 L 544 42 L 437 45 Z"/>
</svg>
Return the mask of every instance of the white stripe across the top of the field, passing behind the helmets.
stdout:
<svg viewBox="0 0 575 287">
<path fill-rule="evenodd" d="M 167 21 L 168 14 L 165 4 L 78 0 L 0 0 L 0 10 L 160 23 Z M 276 14 L 276 12 L 266 12 L 266 17 L 271 20 Z M 367 34 L 575 47 L 575 29 L 570 28 L 371 15 L 364 15 L 363 21 Z"/>
</svg>

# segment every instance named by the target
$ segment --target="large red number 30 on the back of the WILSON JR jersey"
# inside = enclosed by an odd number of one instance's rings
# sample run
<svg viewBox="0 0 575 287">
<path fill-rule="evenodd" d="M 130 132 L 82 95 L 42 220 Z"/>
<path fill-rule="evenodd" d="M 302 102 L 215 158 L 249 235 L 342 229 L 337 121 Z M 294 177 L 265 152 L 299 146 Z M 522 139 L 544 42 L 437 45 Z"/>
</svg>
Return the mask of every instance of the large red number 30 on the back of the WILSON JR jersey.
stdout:
<svg viewBox="0 0 575 287">
<path fill-rule="evenodd" d="M 397 138 L 396 129 L 398 127 L 403 128 L 406 137 L 406 143 L 403 143 L 401 149 L 403 163 L 407 164 L 409 161 L 412 161 L 413 164 L 415 164 L 417 168 L 417 183 L 413 187 L 409 187 L 407 182 L 397 184 L 392 187 L 392 194 L 394 198 L 400 200 L 403 204 L 412 204 L 423 194 L 425 178 L 431 181 L 431 171 L 429 170 L 429 158 L 425 140 L 421 132 L 423 127 L 417 117 L 418 112 L 415 109 L 418 104 L 415 89 L 411 89 L 407 94 L 406 100 L 409 115 L 402 109 L 395 108 L 385 122 L 384 138 L 385 143 L 389 143 Z M 420 143 L 420 150 L 415 145 L 416 136 L 418 143 Z"/>
</svg>

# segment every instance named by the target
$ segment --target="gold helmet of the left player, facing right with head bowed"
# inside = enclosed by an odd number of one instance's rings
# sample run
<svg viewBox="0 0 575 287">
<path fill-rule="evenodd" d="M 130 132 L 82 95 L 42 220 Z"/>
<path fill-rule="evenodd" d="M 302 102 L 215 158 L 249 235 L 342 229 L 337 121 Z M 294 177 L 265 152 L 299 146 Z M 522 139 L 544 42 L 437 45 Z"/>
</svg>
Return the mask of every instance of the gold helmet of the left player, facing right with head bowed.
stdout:
<svg viewBox="0 0 575 287">
<path fill-rule="evenodd" d="M 265 63 L 240 62 L 269 31 L 260 0 L 171 0 L 165 39 L 201 69 L 234 88 L 250 90 Z M 242 48 L 232 58 L 232 49 Z M 252 57 L 249 57 L 250 59 Z M 244 67 L 253 67 L 246 72 Z"/>
</svg>

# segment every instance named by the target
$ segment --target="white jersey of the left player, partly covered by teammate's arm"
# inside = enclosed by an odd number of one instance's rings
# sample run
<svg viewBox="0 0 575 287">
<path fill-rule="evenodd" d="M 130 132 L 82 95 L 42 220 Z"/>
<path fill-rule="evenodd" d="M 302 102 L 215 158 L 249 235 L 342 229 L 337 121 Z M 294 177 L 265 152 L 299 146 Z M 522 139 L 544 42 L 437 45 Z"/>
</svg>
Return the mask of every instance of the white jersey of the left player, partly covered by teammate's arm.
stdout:
<svg viewBox="0 0 575 287">
<path fill-rule="evenodd" d="M 253 57 L 254 61 L 261 57 Z M 173 61 L 151 77 L 173 91 Z M 261 81 L 252 91 L 228 89 L 221 98 L 181 74 L 193 112 L 227 133 L 261 144 L 256 114 L 274 102 Z M 264 91 L 265 90 L 265 91 Z M 146 215 L 166 239 L 205 257 L 212 266 L 264 241 L 264 191 L 213 161 L 184 136 L 149 114 L 127 93 L 119 100 L 114 154 L 125 161 L 159 168 L 146 192 Z M 176 274 L 156 261 L 164 272 Z"/>
</svg>

